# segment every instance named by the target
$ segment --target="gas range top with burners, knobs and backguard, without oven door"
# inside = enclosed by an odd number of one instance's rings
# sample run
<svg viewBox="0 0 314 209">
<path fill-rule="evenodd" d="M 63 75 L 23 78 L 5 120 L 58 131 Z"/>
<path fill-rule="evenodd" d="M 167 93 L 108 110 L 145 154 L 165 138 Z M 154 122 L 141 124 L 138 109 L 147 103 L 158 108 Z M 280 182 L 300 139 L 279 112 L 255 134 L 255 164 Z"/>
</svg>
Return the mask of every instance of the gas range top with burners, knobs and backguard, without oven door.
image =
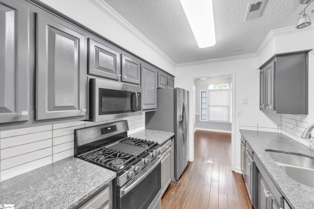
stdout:
<svg viewBox="0 0 314 209">
<path fill-rule="evenodd" d="M 127 131 L 126 120 L 75 130 L 75 157 L 115 171 L 123 186 L 161 154 L 157 142 L 127 137 Z"/>
</svg>

